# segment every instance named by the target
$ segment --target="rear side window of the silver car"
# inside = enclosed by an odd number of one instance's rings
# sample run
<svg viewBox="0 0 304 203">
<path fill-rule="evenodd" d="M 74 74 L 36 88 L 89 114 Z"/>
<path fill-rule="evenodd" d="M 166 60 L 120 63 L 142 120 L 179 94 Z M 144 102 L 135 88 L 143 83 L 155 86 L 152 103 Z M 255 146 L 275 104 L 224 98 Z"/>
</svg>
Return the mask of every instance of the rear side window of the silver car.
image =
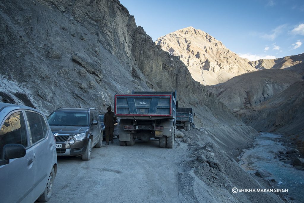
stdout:
<svg viewBox="0 0 304 203">
<path fill-rule="evenodd" d="M 32 143 L 43 139 L 47 134 L 47 127 L 43 116 L 34 112 L 26 112 L 26 116 L 29 122 L 29 128 L 32 137 Z M 44 124 L 44 125 L 43 125 Z"/>
</svg>

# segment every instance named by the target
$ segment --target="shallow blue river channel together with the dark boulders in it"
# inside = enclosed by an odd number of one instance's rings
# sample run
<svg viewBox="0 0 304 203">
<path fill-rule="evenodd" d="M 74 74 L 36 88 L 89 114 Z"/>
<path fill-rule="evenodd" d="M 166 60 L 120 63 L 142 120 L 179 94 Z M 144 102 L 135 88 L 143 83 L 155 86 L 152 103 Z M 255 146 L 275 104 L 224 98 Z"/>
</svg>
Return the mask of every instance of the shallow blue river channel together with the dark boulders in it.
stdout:
<svg viewBox="0 0 304 203">
<path fill-rule="evenodd" d="M 304 171 L 292 164 L 299 151 L 285 146 L 282 135 L 262 132 L 254 139 L 254 147 L 240 155 L 240 166 L 253 176 L 261 176 L 280 191 L 285 200 L 302 202 Z M 258 172 L 257 172 L 258 171 Z"/>
</svg>

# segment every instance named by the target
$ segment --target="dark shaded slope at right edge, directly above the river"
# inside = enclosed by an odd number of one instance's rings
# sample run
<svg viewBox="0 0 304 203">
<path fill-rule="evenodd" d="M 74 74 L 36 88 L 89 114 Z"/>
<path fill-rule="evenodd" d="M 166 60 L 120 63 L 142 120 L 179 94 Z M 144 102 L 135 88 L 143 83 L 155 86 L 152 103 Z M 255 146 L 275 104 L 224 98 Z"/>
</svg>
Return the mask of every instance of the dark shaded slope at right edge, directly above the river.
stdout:
<svg viewBox="0 0 304 203">
<path fill-rule="evenodd" d="M 304 154 L 304 81 L 295 82 L 260 105 L 236 114 L 256 130 L 285 134 L 287 143 Z"/>
</svg>

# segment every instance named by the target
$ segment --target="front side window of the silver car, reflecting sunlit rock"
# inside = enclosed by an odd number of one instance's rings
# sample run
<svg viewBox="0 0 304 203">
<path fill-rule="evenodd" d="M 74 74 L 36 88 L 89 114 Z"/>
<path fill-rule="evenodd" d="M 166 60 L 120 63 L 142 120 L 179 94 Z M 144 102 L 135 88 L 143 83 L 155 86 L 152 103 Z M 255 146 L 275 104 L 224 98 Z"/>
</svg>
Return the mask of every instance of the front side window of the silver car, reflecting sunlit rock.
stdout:
<svg viewBox="0 0 304 203">
<path fill-rule="evenodd" d="M 22 112 L 15 112 L 3 123 L 0 130 L 0 157 L 5 144 L 22 144 L 28 146 L 26 127 Z"/>
</svg>

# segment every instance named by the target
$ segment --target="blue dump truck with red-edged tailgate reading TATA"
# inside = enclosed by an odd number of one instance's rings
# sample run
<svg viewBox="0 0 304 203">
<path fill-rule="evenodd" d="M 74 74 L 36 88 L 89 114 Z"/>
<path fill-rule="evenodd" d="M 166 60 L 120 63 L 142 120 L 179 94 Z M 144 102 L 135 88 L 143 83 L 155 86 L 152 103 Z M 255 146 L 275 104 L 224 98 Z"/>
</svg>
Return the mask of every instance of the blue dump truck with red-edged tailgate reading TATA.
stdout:
<svg viewBox="0 0 304 203">
<path fill-rule="evenodd" d="M 176 129 L 176 91 L 116 94 L 114 113 L 119 121 L 119 144 L 133 146 L 136 138 L 159 139 L 161 148 L 173 148 Z"/>
</svg>

